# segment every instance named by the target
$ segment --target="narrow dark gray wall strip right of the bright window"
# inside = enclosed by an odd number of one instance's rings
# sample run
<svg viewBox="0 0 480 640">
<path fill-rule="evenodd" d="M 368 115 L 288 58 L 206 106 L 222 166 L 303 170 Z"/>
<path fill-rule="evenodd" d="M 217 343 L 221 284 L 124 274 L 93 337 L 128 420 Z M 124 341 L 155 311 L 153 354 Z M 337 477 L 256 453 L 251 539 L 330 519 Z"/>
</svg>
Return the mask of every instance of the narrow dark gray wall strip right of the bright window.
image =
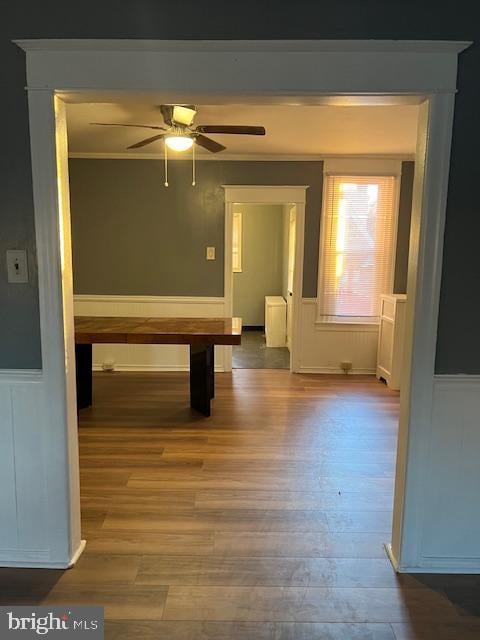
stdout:
<svg viewBox="0 0 480 640">
<path fill-rule="evenodd" d="M 410 246 L 410 221 L 412 218 L 412 190 L 414 162 L 402 162 L 400 198 L 398 203 L 397 255 L 395 257 L 394 293 L 406 293 L 408 275 L 408 249 Z"/>
</svg>

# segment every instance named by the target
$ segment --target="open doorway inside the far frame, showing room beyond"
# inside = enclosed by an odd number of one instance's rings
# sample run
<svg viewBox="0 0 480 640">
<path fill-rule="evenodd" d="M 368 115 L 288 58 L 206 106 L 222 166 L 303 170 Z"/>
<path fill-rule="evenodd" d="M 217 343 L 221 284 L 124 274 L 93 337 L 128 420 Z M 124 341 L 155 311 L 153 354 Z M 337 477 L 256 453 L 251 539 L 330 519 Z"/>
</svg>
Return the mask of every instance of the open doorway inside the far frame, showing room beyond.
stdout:
<svg viewBox="0 0 480 640">
<path fill-rule="evenodd" d="M 243 328 L 234 369 L 290 369 L 295 210 L 288 203 L 234 204 L 233 315 Z"/>
</svg>

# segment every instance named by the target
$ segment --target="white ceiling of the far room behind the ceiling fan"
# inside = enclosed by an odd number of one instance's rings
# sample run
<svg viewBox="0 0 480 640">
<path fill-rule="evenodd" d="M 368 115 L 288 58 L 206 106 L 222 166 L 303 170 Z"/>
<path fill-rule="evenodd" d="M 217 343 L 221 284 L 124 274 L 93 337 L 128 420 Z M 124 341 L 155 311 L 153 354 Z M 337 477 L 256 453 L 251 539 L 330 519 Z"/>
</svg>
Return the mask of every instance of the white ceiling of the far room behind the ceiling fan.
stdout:
<svg viewBox="0 0 480 640">
<path fill-rule="evenodd" d="M 98 127 L 90 122 L 163 125 L 158 106 L 125 102 L 69 104 L 69 150 L 73 155 L 161 155 L 163 143 L 127 147 L 155 135 L 149 129 Z M 401 155 L 415 153 L 418 106 L 202 105 L 195 124 L 263 125 L 266 136 L 212 135 L 227 147 L 222 156 Z M 159 132 L 160 133 L 160 132 Z M 197 146 L 200 156 L 209 152 Z M 188 155 L 190 155 L 187 152 Z M 185 154 L 184 154 L 185 155 Z"/>
</svg>

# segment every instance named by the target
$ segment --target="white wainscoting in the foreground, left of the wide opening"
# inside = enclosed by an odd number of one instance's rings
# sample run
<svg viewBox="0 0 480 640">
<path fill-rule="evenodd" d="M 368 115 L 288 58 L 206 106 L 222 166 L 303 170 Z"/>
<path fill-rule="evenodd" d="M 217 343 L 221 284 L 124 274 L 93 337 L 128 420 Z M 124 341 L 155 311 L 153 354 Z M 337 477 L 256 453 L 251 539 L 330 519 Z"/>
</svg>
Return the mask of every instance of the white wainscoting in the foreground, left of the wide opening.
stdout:
<svg viewBox="0 0 480 640">
<path fill-rule="evenodd" d="M 0 371 L 0 566 L 48 564 L 41 372 Z"/>
</svg>

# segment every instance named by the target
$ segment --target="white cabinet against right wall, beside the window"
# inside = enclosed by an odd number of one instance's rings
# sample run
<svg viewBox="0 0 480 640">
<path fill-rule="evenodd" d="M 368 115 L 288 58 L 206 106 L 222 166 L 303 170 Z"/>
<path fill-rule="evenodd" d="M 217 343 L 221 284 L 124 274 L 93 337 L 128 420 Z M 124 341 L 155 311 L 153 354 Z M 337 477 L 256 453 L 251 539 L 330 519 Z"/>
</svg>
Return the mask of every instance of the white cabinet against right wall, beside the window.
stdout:
<svg viewBox="0 0 480 640">
<path fill-rule="evenodd" d="M 406 304 L 403 293 L 381 296 L 377 378 L 383 378 L 390 389 L 400 389 Z"/>
</svg>

